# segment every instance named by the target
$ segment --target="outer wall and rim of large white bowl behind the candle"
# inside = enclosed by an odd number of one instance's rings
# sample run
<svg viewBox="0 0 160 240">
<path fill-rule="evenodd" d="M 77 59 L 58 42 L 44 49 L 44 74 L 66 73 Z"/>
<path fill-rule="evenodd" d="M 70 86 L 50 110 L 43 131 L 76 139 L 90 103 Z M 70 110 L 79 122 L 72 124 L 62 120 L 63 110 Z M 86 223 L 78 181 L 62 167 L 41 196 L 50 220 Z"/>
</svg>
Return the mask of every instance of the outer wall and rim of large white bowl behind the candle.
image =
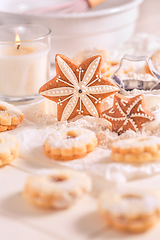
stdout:
<svg viewBox="0 0 160 240">
<path fill-rule="evenodd" d="M 0 1 L 0 24 L 38 23 L 49 27 L 53 62 L 56 53 L 73 57 L 89 47 L 111 49 L 128 40 L 134 32 L 143 0 L 107 0 L 87 12 L 50 16 L 23 14 L 22 1 Z M 35 0 L 27 2 L 30 9 L 36 6 Z M 42 0 L 36 2 L 40 4 Z"/>
</svg>

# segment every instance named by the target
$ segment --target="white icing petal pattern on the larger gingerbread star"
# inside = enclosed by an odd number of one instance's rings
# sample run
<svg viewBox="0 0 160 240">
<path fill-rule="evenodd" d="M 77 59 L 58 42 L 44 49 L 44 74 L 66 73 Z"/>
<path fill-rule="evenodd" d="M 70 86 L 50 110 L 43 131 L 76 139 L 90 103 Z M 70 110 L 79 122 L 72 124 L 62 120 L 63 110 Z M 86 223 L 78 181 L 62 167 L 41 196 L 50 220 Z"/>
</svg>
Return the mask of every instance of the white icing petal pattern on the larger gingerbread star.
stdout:
<svg viewBox="0 0 160 240">
<path fill-rule="evenodd" d="M 67 96 L 63 100 L 61 100 L 61 98 L 59 98 L 58 100 L 59 105 L 63 105 L 64 101 L 69 100 L 66 107 L 63 110 L 61 117 L 62 121 L 67 120 L 70 117 L 70 115 L 76 108 L 78 100 L 80 101 L 80 109 L 77 109 L 78 114 L 84 112 L 82 109 L 83 102 L 84 107 L 87 109 L 87 111 L 92 116 L 98 117 L 99 114 L 94 104 L 100 103 L 101 98 L 100 97 L 97 98 L 92 94 L 104 94 L 112 92 L 114 93 L 118 90 L 117 87 L 110 85 L 98 85 L 89 87 L 94 82 L 101 81 L 100 79 L 101 76 L 97 74 L 96 78 L 92 82 L 90 82 L 90 80 L 92 79 L 97 70 L 99 62 L 100 57 L 97 57 L 95 60 L 93 60 L 89 67 L 87 68 L 83 79 L 81 79 L 81 73 L 84 72 L 84 70 L 81 67 L 77 69 L 77 72 L 79 73 L 77 78 L 72 69 L 68 66 L 68 64 L 60 56 L 57 57 L 57 63 L 59 65 L 59 68 L 61 69 L 62 73 L 65 75 L 65 77 L 69 80 L 70 83 L 63 80 L 61 76 L 58 76 L 56 82 L 60 81 L 62 83 L 65 83 L 67 86 L 45 90 L 41 92 L 41 94 L 46 97 Z M 92 102 L 90 98 L 94 99 L 94 102 Z"/>
</svg>

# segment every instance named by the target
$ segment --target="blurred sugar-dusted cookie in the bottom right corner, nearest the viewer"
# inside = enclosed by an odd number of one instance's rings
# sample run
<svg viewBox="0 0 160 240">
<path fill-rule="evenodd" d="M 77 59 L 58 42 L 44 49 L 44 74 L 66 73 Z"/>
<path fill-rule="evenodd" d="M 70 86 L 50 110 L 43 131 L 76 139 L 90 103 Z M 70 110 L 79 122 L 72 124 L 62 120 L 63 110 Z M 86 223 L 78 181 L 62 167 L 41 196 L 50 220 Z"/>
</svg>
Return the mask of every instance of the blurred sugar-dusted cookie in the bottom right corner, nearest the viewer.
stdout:
<svg viewBox="0 0 160 240">
<path fill-rule="evenodd" d="M 120 231 L 147 231 L 160 219 L 160 194 L 146 189 L 121 188 L 99 198 L 99 211 L 108 225 Z"/>
</svg>

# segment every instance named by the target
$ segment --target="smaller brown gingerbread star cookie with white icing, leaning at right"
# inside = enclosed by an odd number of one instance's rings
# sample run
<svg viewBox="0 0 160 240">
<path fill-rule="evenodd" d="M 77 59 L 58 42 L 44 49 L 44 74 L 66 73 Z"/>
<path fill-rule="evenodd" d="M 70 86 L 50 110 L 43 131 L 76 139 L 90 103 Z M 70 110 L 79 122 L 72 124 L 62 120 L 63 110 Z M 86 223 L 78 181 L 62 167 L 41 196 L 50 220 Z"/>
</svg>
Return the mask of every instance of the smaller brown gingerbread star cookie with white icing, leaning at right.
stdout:
<svg viewBox="0 0 160 240">
<path fill-rule="evenodd" d="M 112 131 L 118 134 L 128 129 L 140 132 L 144 124 L 154 119 L 154 115 L 145 108 L 142 94 L 127 98 L 116 93 L 113 107 L 103 111 L 101 116 L 112 123 Z"/>
</svg>

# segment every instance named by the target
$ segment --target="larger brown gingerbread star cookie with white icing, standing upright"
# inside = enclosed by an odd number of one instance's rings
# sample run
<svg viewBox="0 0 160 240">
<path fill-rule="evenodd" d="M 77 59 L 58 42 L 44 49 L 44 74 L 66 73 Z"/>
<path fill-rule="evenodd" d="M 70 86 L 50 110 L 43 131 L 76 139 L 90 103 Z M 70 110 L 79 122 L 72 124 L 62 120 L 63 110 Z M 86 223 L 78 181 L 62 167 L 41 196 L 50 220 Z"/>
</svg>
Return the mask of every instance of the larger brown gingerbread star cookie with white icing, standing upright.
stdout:
<svg viewBox="0 0 160 240">
<path fill-rule="evenodd" d="M 39 93 L 57 103 L 58 121 L 70 120 L 78 114 L 99 117 L 101 101 L 119 90 L 112 80 L 101 76 L 101 64 L 99 55 L 80 65 L 56 55 L 56 76 Z"/>
</svg>

